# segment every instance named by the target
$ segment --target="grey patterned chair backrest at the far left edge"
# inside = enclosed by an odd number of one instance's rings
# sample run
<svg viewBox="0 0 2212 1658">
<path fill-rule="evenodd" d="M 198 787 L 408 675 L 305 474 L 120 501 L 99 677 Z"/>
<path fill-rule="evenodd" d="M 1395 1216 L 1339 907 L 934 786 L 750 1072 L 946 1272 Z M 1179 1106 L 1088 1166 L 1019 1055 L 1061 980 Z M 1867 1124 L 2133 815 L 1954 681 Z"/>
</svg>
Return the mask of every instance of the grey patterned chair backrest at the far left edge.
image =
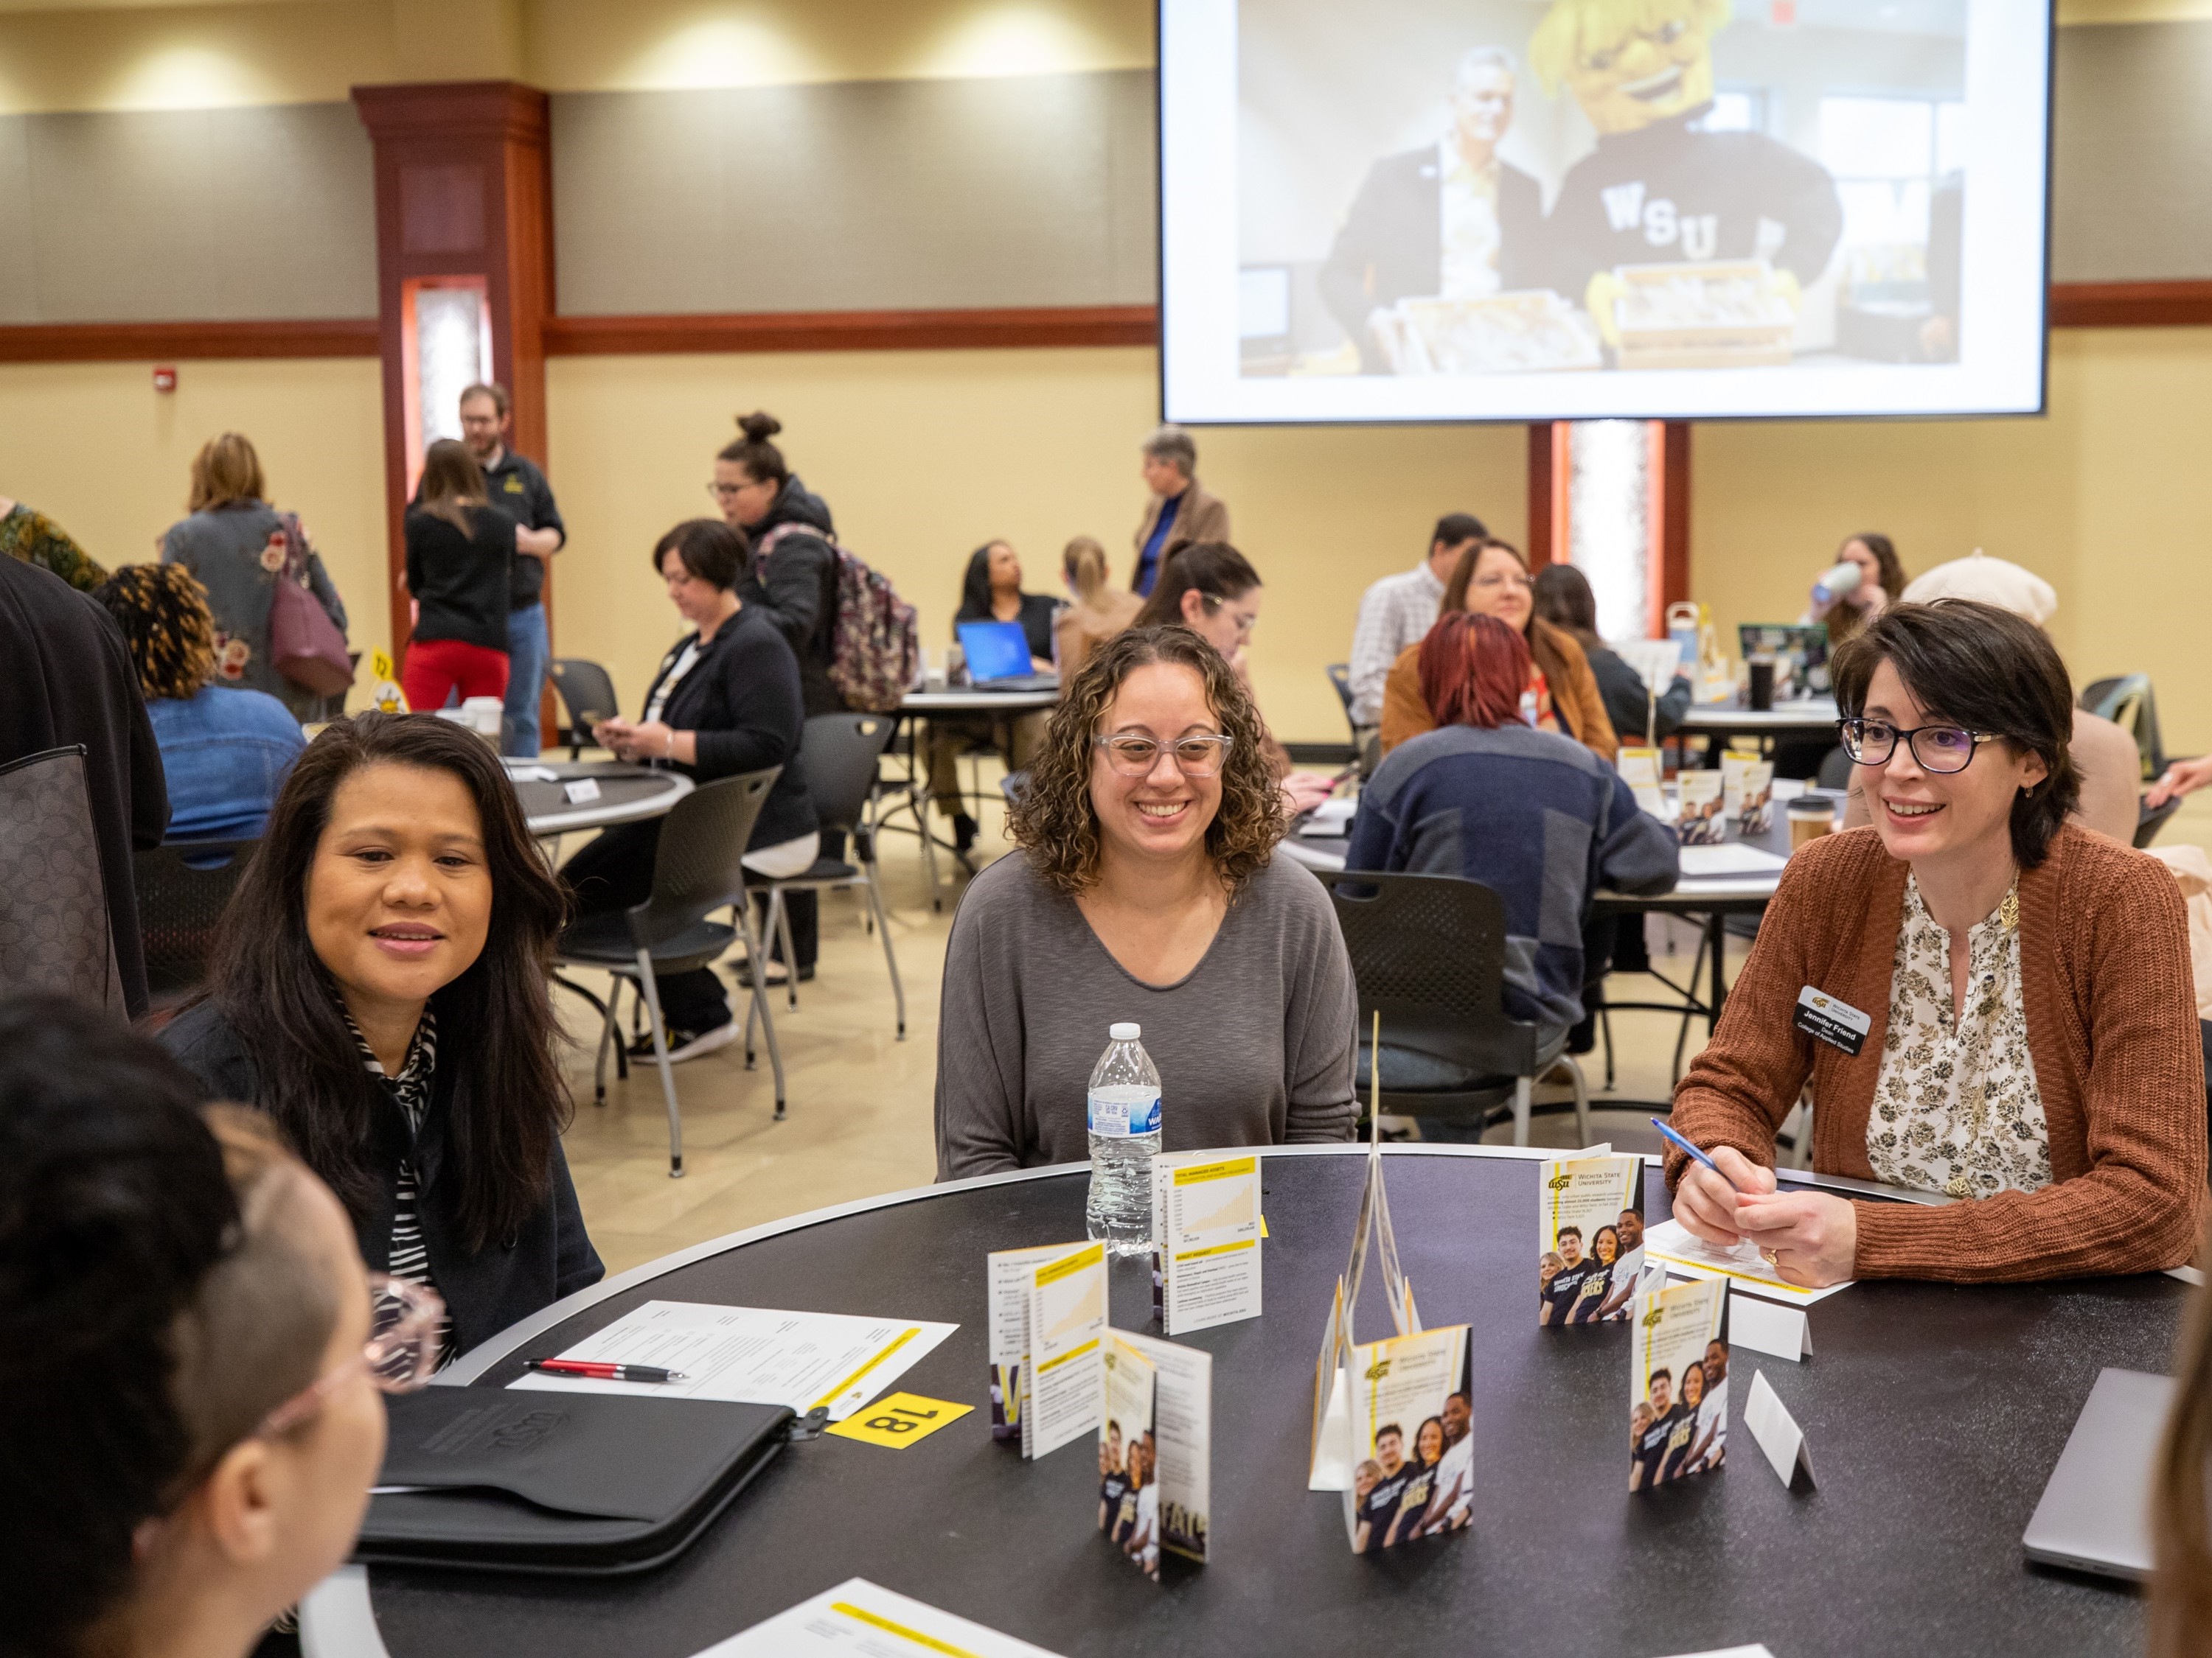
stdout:
<svg viewBox="0 0 2212 1658">
<path fill-rule="evenodd" d="M 82 743 L 0 765 L 0 997 L 24 990 L 124 1010 Z"/>
</svg>

